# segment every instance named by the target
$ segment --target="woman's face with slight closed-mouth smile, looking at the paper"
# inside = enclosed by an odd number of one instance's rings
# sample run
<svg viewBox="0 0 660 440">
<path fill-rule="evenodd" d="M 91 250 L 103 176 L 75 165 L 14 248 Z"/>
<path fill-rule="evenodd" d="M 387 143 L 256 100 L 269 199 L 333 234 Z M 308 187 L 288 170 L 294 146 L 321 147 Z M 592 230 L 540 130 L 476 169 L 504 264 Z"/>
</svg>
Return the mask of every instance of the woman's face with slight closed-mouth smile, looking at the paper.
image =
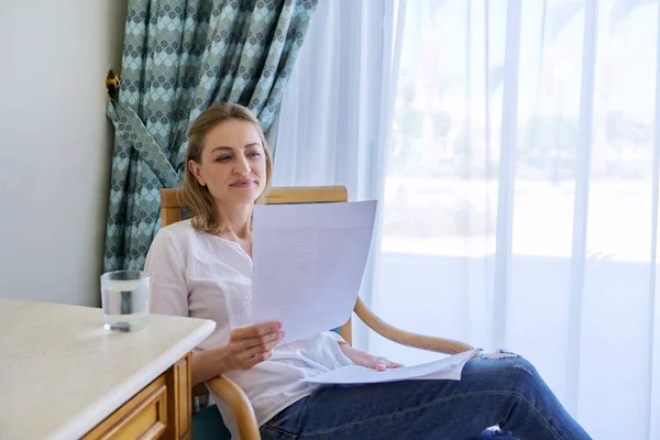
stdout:
<svg viewBox="0 0 660 440">
<path fill-rule="evenodd" d="M 204 138 L 201 163 L 188 161 L 217 204 L 254 204 L 266 185 L 266 154 L 257 129 L 231 119 Z"/>
</svg>

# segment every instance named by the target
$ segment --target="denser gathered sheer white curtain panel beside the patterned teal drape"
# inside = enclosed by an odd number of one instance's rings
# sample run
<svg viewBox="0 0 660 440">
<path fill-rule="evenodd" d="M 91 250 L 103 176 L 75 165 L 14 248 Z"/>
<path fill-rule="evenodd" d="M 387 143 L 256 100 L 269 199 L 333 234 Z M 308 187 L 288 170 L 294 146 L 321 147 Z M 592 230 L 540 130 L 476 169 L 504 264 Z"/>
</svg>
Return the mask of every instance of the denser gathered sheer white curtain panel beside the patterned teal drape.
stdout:
<svg viewBox="0 0 660 440">
<path fill-rule="evenodd" d="M 279 112 L 274 185 L 337 184 L 351 200 L 382 198 L 405 6 L 319 2 Z M 361 292 L 366 301 L 378 232 L 373 242 Z M 358 323 L 356 345 L 366 348 L 366 338 Z"/>
</svg>

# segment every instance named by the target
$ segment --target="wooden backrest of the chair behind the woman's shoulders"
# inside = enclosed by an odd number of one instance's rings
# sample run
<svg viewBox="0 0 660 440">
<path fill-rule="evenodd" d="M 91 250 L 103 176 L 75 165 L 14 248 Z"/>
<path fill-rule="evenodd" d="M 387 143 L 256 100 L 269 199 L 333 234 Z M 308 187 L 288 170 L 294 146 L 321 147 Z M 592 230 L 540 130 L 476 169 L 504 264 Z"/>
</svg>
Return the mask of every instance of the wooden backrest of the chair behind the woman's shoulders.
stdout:
<svg viewBox="0 0 660 440">
<path fill-rule="evenodd" d="M 182 220 L 180 189 L 161 189 L 161 224 L 163 227 Z M 276 187 L 271 189 L 266 204 L 327 204 L 349 200 L 344 186 Z M 353 342 L 351 319 L 340 327 L 339 333 L 348 343 Z"/>
</svg>

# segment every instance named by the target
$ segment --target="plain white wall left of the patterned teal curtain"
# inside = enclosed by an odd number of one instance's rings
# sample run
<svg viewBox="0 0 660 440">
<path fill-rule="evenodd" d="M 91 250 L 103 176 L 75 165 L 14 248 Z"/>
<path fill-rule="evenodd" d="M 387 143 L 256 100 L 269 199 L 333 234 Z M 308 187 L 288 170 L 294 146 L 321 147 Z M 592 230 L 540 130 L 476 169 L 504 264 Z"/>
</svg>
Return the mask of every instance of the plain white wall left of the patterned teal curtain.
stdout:
<svg viewBox="0 0 660 440">
<path fill-rule="evenodd" d="M 127 0 L 0 0 L 0 297 L 99 305 Z"/>
</svg>

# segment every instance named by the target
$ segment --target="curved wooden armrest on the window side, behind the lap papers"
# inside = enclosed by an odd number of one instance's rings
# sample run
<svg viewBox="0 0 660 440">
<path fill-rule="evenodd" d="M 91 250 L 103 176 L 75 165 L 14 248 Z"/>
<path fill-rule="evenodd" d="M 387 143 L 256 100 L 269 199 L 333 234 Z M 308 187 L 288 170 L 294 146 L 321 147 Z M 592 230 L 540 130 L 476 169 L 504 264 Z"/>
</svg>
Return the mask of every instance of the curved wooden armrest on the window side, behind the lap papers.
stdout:
<svg viewBox="0 0 660 440">
<path fill-rule="evenodd" d="M 374 315 L 374 312 L 371 311 L 360 298 L 358 298 L 353 311 L 367 327 L 370 327 L 376 333 L 389 339 L 391 341 L 400 343 L 402 345 L 447 354 L 457 354 L 472 350 L 471 345 L 463 342 L 451 339 L 427 337 L 424 334 L 397 329 L 396 327 L 388 324 Z"/>
</svg>

